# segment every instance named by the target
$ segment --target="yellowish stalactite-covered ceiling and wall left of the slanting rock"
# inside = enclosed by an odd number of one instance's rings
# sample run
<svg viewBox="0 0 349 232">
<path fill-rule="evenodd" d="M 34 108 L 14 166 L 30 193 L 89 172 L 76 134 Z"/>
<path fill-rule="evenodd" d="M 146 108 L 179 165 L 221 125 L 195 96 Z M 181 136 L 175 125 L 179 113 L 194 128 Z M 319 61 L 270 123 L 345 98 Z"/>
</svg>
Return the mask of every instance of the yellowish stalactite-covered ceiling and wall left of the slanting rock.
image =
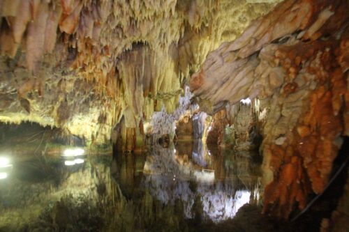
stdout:
<svg viewBox="0 0 349 232">
<path fill-rule="evenodd" d="M 174 111 L 207 53 L 278 1 L 1 1 L 0 121 L 105 143 L 122 116 Z"/>
</svg>

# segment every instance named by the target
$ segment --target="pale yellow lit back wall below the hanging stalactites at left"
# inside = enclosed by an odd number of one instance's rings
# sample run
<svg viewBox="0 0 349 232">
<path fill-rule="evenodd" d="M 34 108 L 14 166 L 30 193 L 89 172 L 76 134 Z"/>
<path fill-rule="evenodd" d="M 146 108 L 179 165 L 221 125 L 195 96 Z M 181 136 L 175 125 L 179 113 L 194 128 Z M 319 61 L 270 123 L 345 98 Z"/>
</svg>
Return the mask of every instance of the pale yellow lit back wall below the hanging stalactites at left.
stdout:
<svg viewBox="0 0 349 232">
<path fill-rule="evenodd" d="M 118 102 L 98 94 L 94 84 L 62 68 L 42 68 L 40 76 L 34 77 L 27 68 L 18 66 L 23 59 L 1 57 L 2 122 L 30 121 L 59 127 L 98 143 L 109 139 L 117 116 L 105 111 L 115 112 Z"/>
</svg>

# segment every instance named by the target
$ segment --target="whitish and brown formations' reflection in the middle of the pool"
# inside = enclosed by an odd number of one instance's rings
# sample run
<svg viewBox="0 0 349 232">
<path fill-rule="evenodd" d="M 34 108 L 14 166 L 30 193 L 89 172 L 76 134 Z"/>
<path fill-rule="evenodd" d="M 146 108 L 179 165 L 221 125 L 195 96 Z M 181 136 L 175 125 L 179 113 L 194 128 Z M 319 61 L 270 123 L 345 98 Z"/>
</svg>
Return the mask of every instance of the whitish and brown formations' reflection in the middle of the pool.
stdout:
<svg viewBox="0 0 349 232">
<path fill-rule="evenodd" d="M 180 152 L 179 146 L 177 150 Z M 258 177 L 251 176 L 248 169 L 240 171 L 244 172 L 242 175 L 245 177 L 249 176 L 249 180 L 220 170 L 225 169 L 221 162 L 224 159 L 219 159 L 218 154 L 216 159 L 208 155 L 201 141 L 194 143 L 191 157 L 171 151 L 161 146 L 153 148 L 153 153 L 144 164 L 144 172 L 147 173 L 144 184 L 151 195 L 162 203 L 181 201 L 187 218 L 195 217 L 195 199 L 201 201 L 202 217 L 214 222 L 234 217 L 237 210 L 250 201 L 251 196 L 258 200 Z M 225 157 L 225 161 L 229 163 L 232 157 Z M 245 162 L 248 164 L 248 160 Z M 216 172 L 221 179 L 215 178 Z M 222 172 L 225 176 L 222 176 Z"/>
</svg>

